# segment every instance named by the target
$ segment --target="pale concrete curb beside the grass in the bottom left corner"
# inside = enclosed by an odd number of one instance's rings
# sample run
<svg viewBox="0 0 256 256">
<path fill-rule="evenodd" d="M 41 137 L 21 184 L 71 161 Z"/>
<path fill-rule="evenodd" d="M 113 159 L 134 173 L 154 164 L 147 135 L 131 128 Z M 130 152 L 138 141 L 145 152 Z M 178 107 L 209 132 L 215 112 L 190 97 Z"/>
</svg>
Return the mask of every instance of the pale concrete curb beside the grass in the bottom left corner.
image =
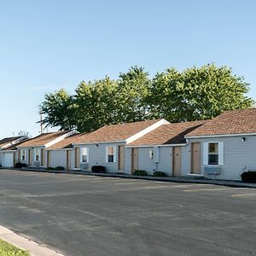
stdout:
<svg viewBox="0 0 256 256">
<path fill-rule="evenodd" d="M 31 241 L 26 237 L 15 234 L 14 231 L 9 230 L 0 225 L 0 238 L 13 244 L 15 247 L 19 247 L 22 250 L 26 250 L 31 256 L 64 256 L 61 253 L 57 253 L 48 247 L 38 244 L 36 241 Z"/>
</svg>

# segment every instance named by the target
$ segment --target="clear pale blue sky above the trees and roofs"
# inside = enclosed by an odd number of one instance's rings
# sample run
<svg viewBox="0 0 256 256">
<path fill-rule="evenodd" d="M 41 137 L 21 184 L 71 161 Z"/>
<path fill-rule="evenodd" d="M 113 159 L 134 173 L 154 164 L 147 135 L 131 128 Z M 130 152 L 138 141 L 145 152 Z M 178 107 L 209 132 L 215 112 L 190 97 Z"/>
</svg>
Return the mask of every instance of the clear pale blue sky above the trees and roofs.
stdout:
<svg viewBox="0 0 256 256">
<path fill-rule="evenodd" d="M 0 137 L 38 135 L 44 93 L 215 62 L 251 84 L 256 100 L 256 1 L 0 0 Z"/>
</svg>

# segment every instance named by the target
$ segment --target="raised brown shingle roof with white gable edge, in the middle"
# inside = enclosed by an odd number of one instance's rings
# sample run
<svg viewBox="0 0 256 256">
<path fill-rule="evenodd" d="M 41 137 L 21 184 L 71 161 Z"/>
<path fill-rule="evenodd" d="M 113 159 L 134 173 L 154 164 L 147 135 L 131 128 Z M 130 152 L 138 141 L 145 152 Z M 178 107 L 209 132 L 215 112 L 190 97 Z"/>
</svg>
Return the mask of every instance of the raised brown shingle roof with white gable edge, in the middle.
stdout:
<svg viewBox="0 0 256 256">
<path fill-rule="evenodd" d="M 135 123 L 126 123 L 119 125 L 106 125 L 102 128 L 79 137 L 76 143 L 104 143 L 125 141 L 127 138 L 143 131 L 150 125 L 154 125 L 160 119 L 148 120 Z"/>
</svg>

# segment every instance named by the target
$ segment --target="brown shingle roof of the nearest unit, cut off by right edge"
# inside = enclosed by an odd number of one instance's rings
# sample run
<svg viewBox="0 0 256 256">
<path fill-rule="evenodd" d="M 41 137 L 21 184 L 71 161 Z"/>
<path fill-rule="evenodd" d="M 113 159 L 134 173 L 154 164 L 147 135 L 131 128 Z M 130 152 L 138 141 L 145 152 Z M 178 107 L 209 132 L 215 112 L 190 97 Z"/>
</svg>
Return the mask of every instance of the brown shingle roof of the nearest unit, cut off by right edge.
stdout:
<svg viewBox="0 0 256 256">
<path fill-rule="evenodd" d="M 187 137 L 256 133 L 256 108 L 225 111 Z"/>
</svg>

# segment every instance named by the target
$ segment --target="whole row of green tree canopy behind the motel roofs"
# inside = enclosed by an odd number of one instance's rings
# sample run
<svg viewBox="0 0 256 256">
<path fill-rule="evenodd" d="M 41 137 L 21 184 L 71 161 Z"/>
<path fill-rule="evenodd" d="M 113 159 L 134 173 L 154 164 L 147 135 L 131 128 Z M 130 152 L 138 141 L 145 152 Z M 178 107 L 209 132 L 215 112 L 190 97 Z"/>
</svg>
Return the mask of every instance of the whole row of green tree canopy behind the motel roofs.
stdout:
<svg viewBox="0 0 256 256">
<path fill-rule="evenodd" d="M 119 79 L 81 82 L 74 95 L 47 93 L 40 105 L 44 124 L 61 130 L 95 131 L 103 125 L 165 118 L 171 122 L 211 119 L 224 110 L 253 107 L 249 84 L 229 67 L 208 64 L 183 72 L 171 68 L 150 79 L 131 67 Z"/>
</svg>

